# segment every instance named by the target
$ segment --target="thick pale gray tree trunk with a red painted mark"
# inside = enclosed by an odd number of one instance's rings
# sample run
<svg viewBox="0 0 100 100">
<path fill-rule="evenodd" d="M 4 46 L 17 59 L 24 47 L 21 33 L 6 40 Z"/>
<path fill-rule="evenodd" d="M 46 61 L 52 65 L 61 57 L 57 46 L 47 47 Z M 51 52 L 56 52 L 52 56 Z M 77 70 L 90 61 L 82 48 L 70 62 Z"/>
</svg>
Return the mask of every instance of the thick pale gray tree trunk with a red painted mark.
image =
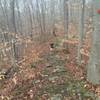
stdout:
<svg viewBox="0 0 100 100">
<path fill-rule="evenodd" d="M 92 50 L 87 67 L 87 79 L 93 84 L 100 84 L 100 0 L 93 0 L 94 4 L 94 32 L 92 34 Z"/>
</svg>

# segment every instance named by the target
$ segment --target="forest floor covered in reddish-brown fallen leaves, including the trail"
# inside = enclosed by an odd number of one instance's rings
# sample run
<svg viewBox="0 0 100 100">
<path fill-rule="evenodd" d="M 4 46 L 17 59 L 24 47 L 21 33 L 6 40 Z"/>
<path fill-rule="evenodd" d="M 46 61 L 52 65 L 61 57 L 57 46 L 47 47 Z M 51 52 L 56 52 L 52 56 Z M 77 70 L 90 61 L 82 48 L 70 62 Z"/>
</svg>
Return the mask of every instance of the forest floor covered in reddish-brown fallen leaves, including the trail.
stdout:
<svg viewBox="0 0 100 100">
<path fill-rule="evenodd" d="M 85 40 L 81 52 L 81 66 L 76 62 L 77 41 L 67 41 L 69 50 L 61 46 L 61 41 L 59 38 L 53 41 L 53 50 L 50 43 L 37 46 L 40 53 L 31 58 L 36 60 L 28 60 L 8 77 L 2 75 L 0 100 L 96 100 L 100 87 L 86 80 L 89 40 Z"/>
</svg>

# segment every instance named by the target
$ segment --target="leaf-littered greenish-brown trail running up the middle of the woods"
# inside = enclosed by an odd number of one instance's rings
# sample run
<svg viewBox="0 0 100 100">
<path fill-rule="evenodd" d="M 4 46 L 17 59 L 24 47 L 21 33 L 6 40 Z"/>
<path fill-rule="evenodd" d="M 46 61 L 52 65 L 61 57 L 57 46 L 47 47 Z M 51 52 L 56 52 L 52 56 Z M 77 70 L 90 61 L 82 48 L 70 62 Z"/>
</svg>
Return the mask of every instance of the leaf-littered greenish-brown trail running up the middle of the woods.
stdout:
<svg viewBox="0 0 100 100">
<path fill-rule="evenodd" d="M 38 70 L 30 68 L 37 74 L 17 84 L 9 95 L 11 100 L 94 100 L 93 92 L 84 87 L 86 82 L 65 67 L 66 55 L 55 50 L 41 55 L 41 62 L 33 64 Z"/>
</svg>

